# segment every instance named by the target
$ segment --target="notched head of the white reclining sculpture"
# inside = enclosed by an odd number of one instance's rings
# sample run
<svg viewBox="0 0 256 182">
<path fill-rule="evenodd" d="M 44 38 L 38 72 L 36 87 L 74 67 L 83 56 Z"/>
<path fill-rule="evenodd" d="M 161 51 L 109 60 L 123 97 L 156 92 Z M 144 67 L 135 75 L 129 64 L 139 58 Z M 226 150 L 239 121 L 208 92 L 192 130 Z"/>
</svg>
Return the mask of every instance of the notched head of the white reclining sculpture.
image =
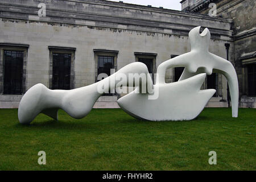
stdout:
<svg viewBox="0 0 256 182">
<path fill-rule="evenodd" d="M 195 27 L 188 34 L 191 50 L 204 49 L 208 51 L 210 44 L 210 31 L 208 28 L 205 28 L 204 31 L 200 34 L 200 28 L 201 26 Z"/>
</svg>

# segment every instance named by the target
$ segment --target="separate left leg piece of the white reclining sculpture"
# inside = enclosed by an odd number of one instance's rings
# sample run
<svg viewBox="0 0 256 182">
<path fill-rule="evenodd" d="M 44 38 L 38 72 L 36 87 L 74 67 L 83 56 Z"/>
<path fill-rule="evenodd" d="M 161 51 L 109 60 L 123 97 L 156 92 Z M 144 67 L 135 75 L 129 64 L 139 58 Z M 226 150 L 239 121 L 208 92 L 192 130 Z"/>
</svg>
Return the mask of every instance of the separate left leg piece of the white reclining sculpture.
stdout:
<svg viewBox="0 0 256 182">
<path fill-rule="evenodd" d="M 129 77 L 131 74 L 148 74 L 148 69 L 143 63 L 131 63 L 126 65 L 113 75 L 101 80 L 95 84 L 84 86 L 73 90 L 50 90 L 43 84 L 36 84 L 30 88 L 22 97 L 18 109 L 19 122 L 29 124 L 39 113 L 44 113 L 53 119 L 57 119 L 57 110 L 63 109 L 71 117 L 80 119 L 85 117 L 97 99 L 104 94 L 98 92 L 99 85 L 105 85 L 105 90 L 115 89 L 115 85 L 119 80 L 115 79 L 119 73 Z M 110 84 L 110 80 L 114 80 L 114 84 Z M 129 80 L 126 85 L 128 86 Z M 133 86 L 152 85 L 151 78 L 146 82 L 139 82 Z"/>
</svg>

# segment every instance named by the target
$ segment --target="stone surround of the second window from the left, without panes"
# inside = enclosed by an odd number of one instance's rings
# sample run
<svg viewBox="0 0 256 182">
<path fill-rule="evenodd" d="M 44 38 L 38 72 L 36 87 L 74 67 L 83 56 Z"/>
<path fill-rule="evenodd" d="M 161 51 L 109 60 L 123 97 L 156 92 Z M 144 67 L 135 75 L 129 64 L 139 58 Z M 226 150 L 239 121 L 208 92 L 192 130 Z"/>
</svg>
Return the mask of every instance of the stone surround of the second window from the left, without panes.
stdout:
<svg viewBox="0 0 256 182">
<path fill-rule="evenodd" d="M 48 46 L 49 49 L 49 88 L 52 89 L 52 77 L 53 77 L 53 53 L 70 54 L 71 65 L 70 65 L 70 90 L 75 88 L 75 53 L 76 48 L 72 47 L 56 47 Z"/>
</svg>

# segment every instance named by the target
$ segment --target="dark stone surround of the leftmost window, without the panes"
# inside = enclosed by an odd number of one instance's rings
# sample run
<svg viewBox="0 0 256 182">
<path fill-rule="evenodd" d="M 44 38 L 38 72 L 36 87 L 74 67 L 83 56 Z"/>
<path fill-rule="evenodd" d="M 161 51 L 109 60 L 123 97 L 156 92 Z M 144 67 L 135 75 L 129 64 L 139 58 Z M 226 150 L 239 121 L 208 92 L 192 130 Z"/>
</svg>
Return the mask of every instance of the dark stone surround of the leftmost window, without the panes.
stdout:
<svg viewBox="0 0 256 182">
<path fill-rule="evenodd" d="M 27 55 L 29 45 L 26 44 L 13 44 L 13 43 L 0 43 L 0 94 L 3 96 L 20 96 L 26 93 L 27 88 Z M 4 51 L 23 51 L 23 70 L 22 70 L 22 93 L 21 94 L 4 94 Z"/>
</svg>

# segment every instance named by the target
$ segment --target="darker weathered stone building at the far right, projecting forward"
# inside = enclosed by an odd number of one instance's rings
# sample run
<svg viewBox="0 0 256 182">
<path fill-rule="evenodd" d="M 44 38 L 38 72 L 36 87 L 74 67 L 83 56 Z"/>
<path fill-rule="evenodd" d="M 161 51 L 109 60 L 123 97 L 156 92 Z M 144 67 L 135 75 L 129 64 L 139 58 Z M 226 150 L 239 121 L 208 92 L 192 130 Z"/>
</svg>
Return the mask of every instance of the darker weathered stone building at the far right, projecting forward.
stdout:
<svg viewBox="0 0 256 182">
<path fill-rule="evenodd" d="M 183 11 L 212 13 L 216 4 L 216 15 L 233 19 L 232 52 L 234 66 L 240 86 L 240 106 L 256 107 L 256 9 L 255 0 L 183 0 Z"/>
</svg>

